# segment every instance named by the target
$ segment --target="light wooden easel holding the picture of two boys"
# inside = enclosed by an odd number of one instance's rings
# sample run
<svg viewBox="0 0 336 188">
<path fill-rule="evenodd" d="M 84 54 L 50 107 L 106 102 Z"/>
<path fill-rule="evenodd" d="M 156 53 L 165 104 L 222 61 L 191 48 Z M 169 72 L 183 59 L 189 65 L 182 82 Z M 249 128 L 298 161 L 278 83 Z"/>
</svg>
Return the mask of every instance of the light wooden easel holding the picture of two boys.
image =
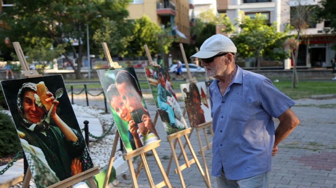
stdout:
<svg viewBox="0 0 336 188">
<path fill-rule="evenodd" d="M 103 49 L 104 49 L 105 56 L 106 56 L 106 58 L 107 58 L 107 60 L 109 62 L 110 69 L 122 68 L 121 66 L 119 66 L 118 62 L 113 62 L 112 61 L 112 58 L 111 58 L 110 53 L 109 53 L 109 50 L 107 48 L 107 44 L 106 43 L 102 43 L 102 46 L 103 46 Z M 115 154 L 116 154 L 116 149 L 117 149 L 117 144 L 118 144 L 119 136 L 120 136 L 119 132 L 117 131 L 116 136 L 115 136 L 115 141 L 113 143 L 113 148 L 112 148 L 112 151 L 111 151 L 111 155 L 110 155 L 110 160 L 109 160 L 109 163 L 108 163 L 108 166 L 107 166 L 105 181 L 104 181 L 104 185 L 103 185 L 104 188 L 107 186 L 109 175 L 110 175 L 110 172 L 111 172 L 111 169 L 112 169 L 112 166 L 113 166 L 113 161 L 114 161 L 114 157 L 115 157 Z M 161 161 L 160 161 L 160 159 L 159 159 L 159 157 L 157 155 L 157 152 L 155 150 L 156 147 L 160 146 L 160 142 L 161 142 L 161 140 L 158 140 L 158 141 L 153 142 L 153 143 L 151 143 L 149 145 L 143 146 L 141 148 L 137 148 L 137 149 L 135 149 L 135 150 L 133 150 L 131 152 L 123 154 L 123 159 L 125 161 L 127 161 L 127 165 L 128 165 L 128 168 L 129 168 L 129 171 L 130 171 L 130 174 L 131 174 L 132 184 L 133 184 L 134 188 L 138 187 L 137 180 L 136 180 L 138 174 L 135 175 L 135 173 L 134 173 L 134 167 L 133 167 L 133 163 L 132 163 L 132 158 L 134 158 L 135 156 L 138 156 L 138 155 L 140 155 L 140 158 L 141 158 L 141 161 L 142 161 L 141 164 L 143 164 L 141 166 L 144 166 L 144 169 L 145 169 L 145 172 L 146 172 L 146 176 L 147 176 L 147 180 L 148 180 L 148 183 L 149 183 L 149 185 L 150 185 L 151 188 L 154 188 L 154 187 L 163 187 L 163 186 L 172 187 L 171 183 L 168 180 L 167 175 L 164 172 L 164 169 L 162 167 Z M 161 175 L 163 177 L 163 181 L 159 182 L 158 184 L 154 184 L 152 175 L 151 175 L 149 167 L 148 167 L 148 163 L 147 163 L 147 160 L 146 160 L 146 152 L 148 152 L 148 151 L 152 151 L 154 159 L 156 161 L 156 164 L 157 164 L 157 166 L 158 166 L 158 168 L 160 170 L 160 173 L 161 173 Z M 138 171 L 139 171 L 139 169 L 141 169 L 141 166 L 139 165 Z"/>
</svg>

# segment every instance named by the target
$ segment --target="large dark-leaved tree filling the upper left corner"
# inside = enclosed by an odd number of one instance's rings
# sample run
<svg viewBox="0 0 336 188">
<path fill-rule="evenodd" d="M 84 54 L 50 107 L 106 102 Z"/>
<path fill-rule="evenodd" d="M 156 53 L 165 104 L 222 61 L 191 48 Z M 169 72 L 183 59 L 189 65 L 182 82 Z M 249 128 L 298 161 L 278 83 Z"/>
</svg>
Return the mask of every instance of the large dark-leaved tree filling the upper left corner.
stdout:
<svg viewBox="0 0 336 188">
<path fill-rule="evenodd" d="M 105 1 L 65 1 L 65 0 L 32 0 L 11 1 L 13 7 L 7 7 L 0 14 L 1 20 L 6 20 L 9 29 L 2 29 L 0 37 L 9 37 L 11 41 L 19 41 L 22 49 L 34 45 L 32 39 L 49 39 L 53 46 L 62 44 L 69 59 L 72 54 L 76 64 L 71 62 L 76 78 L 81 78 L 83 47 L 86 45 L 86 27 L 89 24 L 89 34 L 103 28 L 102 18 L 115 21 L 115 30 L 123 31 L 128 16 L 128 0 L 105 0 Z M 120 33 L 124 36 L 123 33 Z M 71 41 L 78 40 L 78 45 L 71 45 Z M 91 38 L 92 40 L 92 38 Z M 120 43 L 115 41 L 117 44 Z M 91 43 L 92 44 L 92 41 Z M 100 47 L 101 48 L 101 47 Z"/>
</svg>

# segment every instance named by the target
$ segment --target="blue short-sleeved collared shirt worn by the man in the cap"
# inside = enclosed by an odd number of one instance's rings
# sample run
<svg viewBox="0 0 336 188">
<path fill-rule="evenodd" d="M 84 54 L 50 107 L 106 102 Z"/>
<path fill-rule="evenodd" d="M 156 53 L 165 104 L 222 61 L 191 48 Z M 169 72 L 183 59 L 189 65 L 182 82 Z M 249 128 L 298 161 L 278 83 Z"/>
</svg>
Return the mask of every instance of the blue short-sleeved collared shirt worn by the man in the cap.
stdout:
<svg viewBox="0 0 336 188">
<path fill-rule="evenodd" d="M 223 169 L 239 180 L 271 170 L 274 122 L 295 102 L 272 82 L 253 72 L 237 72 L 222 96 L 218 80 L 210 85 L 213 137 L 212 175 Z"/>
</svg>

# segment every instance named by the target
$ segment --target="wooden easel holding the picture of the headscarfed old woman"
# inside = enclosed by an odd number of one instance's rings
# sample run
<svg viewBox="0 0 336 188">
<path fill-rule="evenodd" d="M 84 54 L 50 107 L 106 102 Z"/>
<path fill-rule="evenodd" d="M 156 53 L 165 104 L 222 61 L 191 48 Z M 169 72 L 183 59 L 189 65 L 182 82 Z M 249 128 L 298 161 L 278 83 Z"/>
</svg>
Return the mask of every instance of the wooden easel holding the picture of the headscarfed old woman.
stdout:
<svg viewBox="0 0 336 188">
<path fill-rule="evenodd" d="M 21 67 L 22 67 L 22 77 L 24 78 L 36 78 L 36 77 L 42 77 L 41 74 L 39 74 L 36 70 L 29 70 L 29 66 L 27 64 L 27 61 L 25 60 L 23 51 L 21 49 L 19 42 L 13 42 L 13 46 L 15 48 L 15 52 L 17 54 L 17 57 L 19 58 Z M 93 176 L 96 174 L 99 174 L 99 168 L 100 166 L 91 168 L 87 171 L 81 172 L 77 175 L 71 176 L 63 181 L 60 181 L 58 183 L 55 183 L 53 185 L 48 186 L 48 188 L 63 188 L 63 187 L 73 187 L 76 183 L 79 183 L 83 180 L 88 180 L 91 187 L 97 188 L 97 185 L 95 181 L 93 180 Z M 29 188 L 29 182 L 32 178 L 32 172 L 30 167 L 28 167 L 27 172 L 25 174 L 25 178 L 23 180 L 23 188 Z"/>
</svg>

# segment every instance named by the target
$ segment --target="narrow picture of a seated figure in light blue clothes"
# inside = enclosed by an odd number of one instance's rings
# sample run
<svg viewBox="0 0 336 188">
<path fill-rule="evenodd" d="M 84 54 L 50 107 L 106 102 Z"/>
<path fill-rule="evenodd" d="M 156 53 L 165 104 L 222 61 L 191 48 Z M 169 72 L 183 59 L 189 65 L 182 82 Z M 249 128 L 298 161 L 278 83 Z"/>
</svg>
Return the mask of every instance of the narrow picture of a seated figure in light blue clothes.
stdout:
<svg viewBox="0 0 336 188">
<path fill-rule="evenodd" d="M 167 135 L 188 128 L 167 67 L 145 67 L 147 81 Z"/>
</svg>

